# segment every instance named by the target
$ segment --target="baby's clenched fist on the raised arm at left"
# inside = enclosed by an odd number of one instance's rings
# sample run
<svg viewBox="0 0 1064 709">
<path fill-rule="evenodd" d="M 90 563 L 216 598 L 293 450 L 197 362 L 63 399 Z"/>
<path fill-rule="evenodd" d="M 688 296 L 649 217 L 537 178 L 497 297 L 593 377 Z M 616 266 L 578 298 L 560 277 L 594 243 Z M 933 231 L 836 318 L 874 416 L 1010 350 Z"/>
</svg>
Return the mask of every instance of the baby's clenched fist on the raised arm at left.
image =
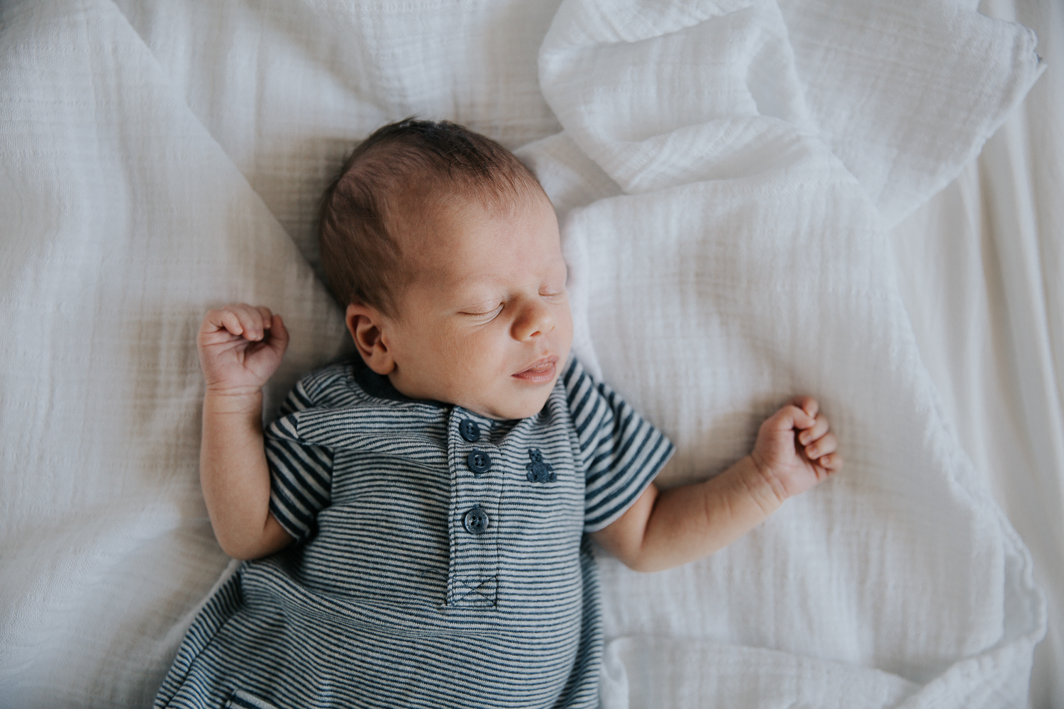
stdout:
<svg viewBox="0 0 1064 709">
<path fill-rule="evenodd" d="M 211 310 L 197 338 L 206 388 L 221 393 L 252 393 L 281 365 L 288 331 L 281 316 L 246 303 Z"/>
</svg>

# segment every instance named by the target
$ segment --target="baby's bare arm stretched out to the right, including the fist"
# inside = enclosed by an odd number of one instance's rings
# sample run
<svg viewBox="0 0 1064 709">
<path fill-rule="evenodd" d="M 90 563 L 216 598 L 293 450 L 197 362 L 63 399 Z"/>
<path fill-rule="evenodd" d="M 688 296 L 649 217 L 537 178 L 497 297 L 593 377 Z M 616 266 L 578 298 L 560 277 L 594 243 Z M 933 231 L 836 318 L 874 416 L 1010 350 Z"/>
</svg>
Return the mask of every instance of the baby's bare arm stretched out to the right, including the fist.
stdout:
<svg viewBox="0 0 1064 709">
<path fill-rule="evenodd" d="M 761 424 L 750 455 L 720 475 L 664 492 L 650 484 L 608 527 L 592 536 L 635 571 L 663 571 L 732 543 L 843 467 L 827 418 L 797 396 Z"/>
</svg>

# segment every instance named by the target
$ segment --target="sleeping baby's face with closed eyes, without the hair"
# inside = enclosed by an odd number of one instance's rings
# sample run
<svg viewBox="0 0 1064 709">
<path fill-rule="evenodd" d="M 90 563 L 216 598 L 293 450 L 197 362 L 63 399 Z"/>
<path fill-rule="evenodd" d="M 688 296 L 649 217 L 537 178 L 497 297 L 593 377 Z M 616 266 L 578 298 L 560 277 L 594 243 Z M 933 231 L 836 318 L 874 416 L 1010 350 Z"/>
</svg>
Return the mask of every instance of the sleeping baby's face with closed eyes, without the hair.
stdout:
<svg viewBox="0 0 1064 709">
<path fill-rule="evenodd" d="M 448 208 L 403 246 L 416 275 L 382 328 L 393 386 L 493 419 L 538 412 L 572 344 L 550 202 L 525 200 L 509 215 Z"/>
</svg>

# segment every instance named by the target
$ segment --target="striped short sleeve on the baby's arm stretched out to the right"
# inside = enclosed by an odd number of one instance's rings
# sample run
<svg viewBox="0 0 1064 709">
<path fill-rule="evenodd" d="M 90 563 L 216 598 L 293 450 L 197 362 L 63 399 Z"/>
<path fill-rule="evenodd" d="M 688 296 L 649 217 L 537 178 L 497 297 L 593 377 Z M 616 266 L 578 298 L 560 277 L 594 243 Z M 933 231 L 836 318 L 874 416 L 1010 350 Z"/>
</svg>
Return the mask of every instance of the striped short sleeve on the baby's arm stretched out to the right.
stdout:
<svg viewBox="0 0 1064 709">
<path fill-rule="evenodd" d="M 631 507 L 675 449 L 575 358 L 563 383 L 584 465 L 584 531 L 598 531 Z"/>
</svg>

